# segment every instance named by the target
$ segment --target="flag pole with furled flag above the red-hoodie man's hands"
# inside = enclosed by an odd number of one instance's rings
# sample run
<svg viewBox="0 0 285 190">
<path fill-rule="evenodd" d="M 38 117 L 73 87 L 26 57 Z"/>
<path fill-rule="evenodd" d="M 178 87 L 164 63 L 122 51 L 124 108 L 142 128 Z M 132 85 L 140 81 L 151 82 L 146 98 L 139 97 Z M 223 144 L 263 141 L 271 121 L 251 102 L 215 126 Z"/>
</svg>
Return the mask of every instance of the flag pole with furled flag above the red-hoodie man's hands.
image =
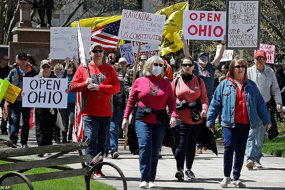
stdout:
<svg viewBox="0 0 285 190">
<path fill-rule="evenodd" d="M 87 57 L 85 53 L 82 33 L 81 33 L 79 17 L 76 17 L 76 28 L 77 28 L 77 41 L 78 41 L 79 47 L 81 47 L 80 50 L 78 49 L 79 56 L 82 55 L 82 57 L 79 57 L 79 60 L 83 63 L 83 66 L 86 68 L 88 77 L 91 78 L 89 67 L 88 67 L 88 62 L 87 62 Z M 82 53 L 80 51 L 82 51 Z"/>
</svg>

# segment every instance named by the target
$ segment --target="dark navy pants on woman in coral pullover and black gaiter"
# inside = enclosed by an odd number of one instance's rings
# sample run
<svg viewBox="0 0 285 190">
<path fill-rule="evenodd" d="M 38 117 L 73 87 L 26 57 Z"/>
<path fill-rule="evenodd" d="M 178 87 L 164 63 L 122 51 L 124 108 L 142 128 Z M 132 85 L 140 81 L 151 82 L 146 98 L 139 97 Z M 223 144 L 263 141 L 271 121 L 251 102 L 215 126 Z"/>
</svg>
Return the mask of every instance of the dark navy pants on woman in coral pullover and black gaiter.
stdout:
<svg viewBox="0 0 285 190">
<path fill-rule="evenodd" d="M 180 125 L 180 145 L 176 149 L 175 159 L 176 166 L 184 170 L 186 158 L 186 169 L 191 170 L 196 153 L 196 141 L 201 133 L 203 123 L 188 124 L 177 120 Z"/>
</svg>

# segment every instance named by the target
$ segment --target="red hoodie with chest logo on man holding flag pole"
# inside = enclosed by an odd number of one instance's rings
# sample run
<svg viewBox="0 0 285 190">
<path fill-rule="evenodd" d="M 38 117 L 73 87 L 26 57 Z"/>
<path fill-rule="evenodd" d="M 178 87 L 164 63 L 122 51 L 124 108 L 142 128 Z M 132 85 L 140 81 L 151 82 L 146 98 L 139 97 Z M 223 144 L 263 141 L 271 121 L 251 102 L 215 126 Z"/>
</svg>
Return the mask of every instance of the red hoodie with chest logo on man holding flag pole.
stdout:
<svg viewBox="0 0 285 190">
<path fill-rule="evenodd" d="M 82 64 L 76 71 L 69 90 L 82 92 L 82 115 L 97 117 L 113 116 L 112 94 L 120 91 L 120 82 L 115 69 L 107 64 L 97 67 L 94 62 L 88 64 L 93 83 L 99 85 L 99 91 L 89 90 L 85 85 L 87 70 Z"/>
</svg>

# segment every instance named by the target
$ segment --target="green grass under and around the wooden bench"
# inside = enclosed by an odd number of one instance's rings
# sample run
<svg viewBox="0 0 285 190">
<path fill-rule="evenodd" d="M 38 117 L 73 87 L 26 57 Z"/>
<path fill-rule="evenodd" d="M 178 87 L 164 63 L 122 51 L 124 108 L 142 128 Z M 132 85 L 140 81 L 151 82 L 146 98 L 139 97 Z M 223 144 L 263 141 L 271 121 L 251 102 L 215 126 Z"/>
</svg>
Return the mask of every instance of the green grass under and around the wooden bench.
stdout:
<svg viewBox="0 0 285 190">
<path fill-rule="evenodd" d="M 0 164 L 6 164 L 9 162 L 4 162 L 0 160 Z M 1 167 L 1 166 L 0 166 Z M 50 169 L 50 168 L 34 168 L 27 172 L 24 172 L 24 175 L 31 175 L 36 173 L 47 173 L 47 172 L 54 172 L 58 170 Z M 9 172 L 0 172 L 0 177 L 5 173 Z M 32 182 L 33 187 L 35 190 L 82 190 L 85 189 L 84 177 L 77 176 L 77 177 L 70 177 L 70 178 L 63 178 L 63 179 L 53 179 L 47 181 L 37 181 Z M 0 186 L 1 187 L 1 186 Z M 23 184 L 15 184 L 11 185 L 10 189 L 12 190 L 29 190 L 28 185 Z M 90 180 L 90 189 L 94 190 L 118 190 L 117 188 L 107 185 L 105 183 L 100 183 L 95 180 Z"/>
</svg>

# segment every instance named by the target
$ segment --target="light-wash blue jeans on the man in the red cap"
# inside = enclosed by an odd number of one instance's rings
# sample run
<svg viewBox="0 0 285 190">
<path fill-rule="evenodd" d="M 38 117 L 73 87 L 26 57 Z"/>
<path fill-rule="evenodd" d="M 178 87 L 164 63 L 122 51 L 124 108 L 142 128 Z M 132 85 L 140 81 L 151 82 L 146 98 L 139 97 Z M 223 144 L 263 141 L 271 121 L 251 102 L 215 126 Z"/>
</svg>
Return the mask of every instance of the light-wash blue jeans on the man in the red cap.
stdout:
<svg viewBox="0 0 285 190">
<path fill-rule="evenodd" d="M 265 138 L 266 128 L 264 127 L 262 120 L 257 117 L 256 128 L 249 130 L 249 136 L 246 145 L 247 161 L 260 162 L 261 149 Z"/>
</svg>

